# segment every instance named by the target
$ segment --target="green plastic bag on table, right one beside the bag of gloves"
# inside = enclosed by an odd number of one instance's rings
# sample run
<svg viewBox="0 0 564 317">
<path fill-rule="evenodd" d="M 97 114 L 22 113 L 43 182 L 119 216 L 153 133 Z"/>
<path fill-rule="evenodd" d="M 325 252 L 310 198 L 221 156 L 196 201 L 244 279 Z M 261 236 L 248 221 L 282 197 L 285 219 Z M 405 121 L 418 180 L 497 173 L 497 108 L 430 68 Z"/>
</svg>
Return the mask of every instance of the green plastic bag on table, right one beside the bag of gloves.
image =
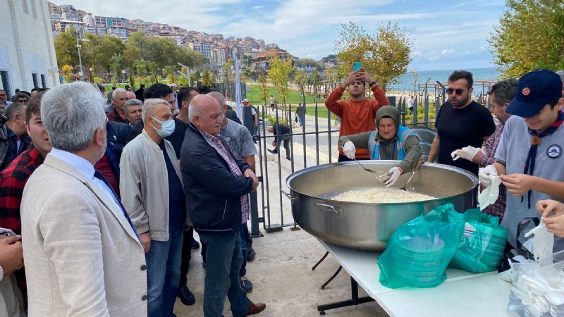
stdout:
<svg viewBox="0 0 564 317">
<path fill-rule="evenodd" d="M 484 273 L 494 271 L 503 259 L 507 229 L 499 225 L 496 216 L 469 209 L 464 213 L 464 232 L 450 266 Z"/>
</svg>

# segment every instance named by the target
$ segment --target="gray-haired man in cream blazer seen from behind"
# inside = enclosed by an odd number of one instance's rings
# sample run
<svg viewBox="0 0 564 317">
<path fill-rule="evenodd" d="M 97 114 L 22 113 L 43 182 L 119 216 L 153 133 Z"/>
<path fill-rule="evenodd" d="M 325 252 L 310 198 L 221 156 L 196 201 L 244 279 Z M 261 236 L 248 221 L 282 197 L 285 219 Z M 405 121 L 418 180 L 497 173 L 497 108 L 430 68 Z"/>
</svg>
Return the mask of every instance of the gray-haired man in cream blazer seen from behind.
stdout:
<svg viewBox="0 0 564 317">
<path fill-rule="evenodd" d="M 86 82 L 43 95 L 53 149 L 21 204 L 29 316 L 147 316 L 147 266 L 135 228 L 104 176 L 99 90 Z"/>
</svg>

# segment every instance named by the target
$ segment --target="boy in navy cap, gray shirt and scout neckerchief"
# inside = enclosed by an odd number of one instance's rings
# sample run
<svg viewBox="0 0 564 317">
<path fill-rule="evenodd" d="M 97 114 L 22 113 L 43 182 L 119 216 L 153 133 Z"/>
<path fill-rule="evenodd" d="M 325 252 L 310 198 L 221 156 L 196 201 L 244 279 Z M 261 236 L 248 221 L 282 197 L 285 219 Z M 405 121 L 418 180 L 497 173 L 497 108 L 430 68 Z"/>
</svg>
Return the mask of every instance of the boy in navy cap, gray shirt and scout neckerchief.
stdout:
<svg viewBox="0 0 564 317">
<path fill-rule="evenodd" d="M 564 104 L 562 81 L 551 70 L 534 70 L 519 79 L 513 101 L 505 110 L 505 123 L 496 150 L 496 163 L 479 172 L 486 187 L 498 176 L 507 187 L 507 207 L 501 221 L 508 242 L 515 247 L 517 225 L 523 218 L 538 217 L 542 199 L 564 200 Z M 554 251 L 564 249 L 555 238 Z"/>
</svg>

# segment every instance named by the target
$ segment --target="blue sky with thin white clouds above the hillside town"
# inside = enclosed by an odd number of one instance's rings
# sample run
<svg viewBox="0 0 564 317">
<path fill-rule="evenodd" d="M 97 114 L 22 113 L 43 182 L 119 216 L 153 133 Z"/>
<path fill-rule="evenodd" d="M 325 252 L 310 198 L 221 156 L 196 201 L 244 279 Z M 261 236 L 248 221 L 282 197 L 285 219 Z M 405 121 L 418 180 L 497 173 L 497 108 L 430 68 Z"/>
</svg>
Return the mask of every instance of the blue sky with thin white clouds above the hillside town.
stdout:
<svg viewBox="0 0 564 317">
<path fill-rule="evenodd" d="M 53 1 L 53 0 L 51 0 Z M 225 37 L 275 42 L 300 58 L 334 54 L 341 23 L 375 34 L 398 23 L 413 41 L 409 70 L 494 67 L 487 39 L 505 11 L 503 0 L 54 0 L 94 15 L 140 18 Z"/>
</svg>

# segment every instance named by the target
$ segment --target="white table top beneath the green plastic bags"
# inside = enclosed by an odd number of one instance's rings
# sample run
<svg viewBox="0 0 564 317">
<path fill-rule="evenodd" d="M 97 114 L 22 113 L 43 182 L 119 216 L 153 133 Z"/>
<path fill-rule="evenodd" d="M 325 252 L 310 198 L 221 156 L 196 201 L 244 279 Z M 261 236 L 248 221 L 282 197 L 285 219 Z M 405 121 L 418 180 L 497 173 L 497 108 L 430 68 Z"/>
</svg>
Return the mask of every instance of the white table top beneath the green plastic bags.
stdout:
<svg viewBox="0 0 564 317">
<path fill-rule="evenodd" d="M 379 282 L 379 253 L 319 242 L 390 316 L 509 316 L 511 284 L 500 280 L 497 272 L 470 273 L 447 268 L 447 279 L 437 287 L 393 290 Z"/>
</svg>

